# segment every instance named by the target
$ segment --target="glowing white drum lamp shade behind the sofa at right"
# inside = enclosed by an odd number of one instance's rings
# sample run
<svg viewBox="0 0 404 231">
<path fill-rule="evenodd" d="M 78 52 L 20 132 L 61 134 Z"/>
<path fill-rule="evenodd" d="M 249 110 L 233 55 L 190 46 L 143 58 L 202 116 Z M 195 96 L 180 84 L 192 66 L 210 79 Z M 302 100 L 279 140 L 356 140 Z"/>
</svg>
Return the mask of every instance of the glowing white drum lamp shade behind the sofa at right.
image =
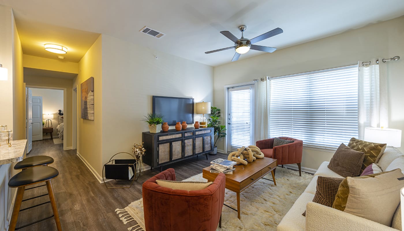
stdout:
<svg viewBox="0 0 404 231">
<path fill-rule="evenodd" d="M 366 127 L 365 141 L 401 147 L 401 130 L 380 127 Z"/>
</svg>

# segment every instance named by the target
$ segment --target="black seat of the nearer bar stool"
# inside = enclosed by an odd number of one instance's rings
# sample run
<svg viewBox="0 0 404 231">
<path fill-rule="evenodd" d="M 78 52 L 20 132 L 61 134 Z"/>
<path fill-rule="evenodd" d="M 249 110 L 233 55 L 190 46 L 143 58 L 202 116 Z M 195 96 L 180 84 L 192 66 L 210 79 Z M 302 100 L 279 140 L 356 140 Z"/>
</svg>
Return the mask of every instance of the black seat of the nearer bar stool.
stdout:
<svg viewBox="0 0 404 231">
<path fill-rule="evenodd" d="M 28 184 L 34 184 L 57 177 L 59 171 L 49 166 L 38 166 L 27 168 L 26 170 L 15 174 L 9 181 L 8 186 L 19 187 Z"/>
</svg>

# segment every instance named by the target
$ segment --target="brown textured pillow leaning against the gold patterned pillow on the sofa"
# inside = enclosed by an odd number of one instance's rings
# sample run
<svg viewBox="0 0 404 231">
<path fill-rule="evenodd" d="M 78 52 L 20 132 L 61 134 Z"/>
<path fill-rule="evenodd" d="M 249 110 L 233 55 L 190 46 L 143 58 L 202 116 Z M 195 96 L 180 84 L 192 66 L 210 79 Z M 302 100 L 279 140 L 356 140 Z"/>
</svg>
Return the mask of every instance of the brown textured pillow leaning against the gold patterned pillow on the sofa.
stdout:
<svg viewBox="0 0 404 231">
<path fill-rule="evenodd" d="M 364 156 L 363 152 L 341 144 L 332 156 L 328 168 L 343 177 L 359 176 Z"/>
</svg>

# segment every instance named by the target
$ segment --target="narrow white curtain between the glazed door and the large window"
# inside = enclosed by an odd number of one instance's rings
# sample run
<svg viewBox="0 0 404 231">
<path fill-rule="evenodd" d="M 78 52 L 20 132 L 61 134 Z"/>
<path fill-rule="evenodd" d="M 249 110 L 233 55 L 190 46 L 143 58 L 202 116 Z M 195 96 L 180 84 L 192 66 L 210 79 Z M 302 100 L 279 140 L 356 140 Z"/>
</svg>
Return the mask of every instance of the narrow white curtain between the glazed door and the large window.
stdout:
<svg viewBox="0 0 404 231">
<path fill-rule="evenodd" d="M 270 81 L 265 76 L 256 82 L 257 89 L 257 123 L 255 129 L 255 140 L 268 139 L 269 132 L 269 86 Z"/>
</svg>

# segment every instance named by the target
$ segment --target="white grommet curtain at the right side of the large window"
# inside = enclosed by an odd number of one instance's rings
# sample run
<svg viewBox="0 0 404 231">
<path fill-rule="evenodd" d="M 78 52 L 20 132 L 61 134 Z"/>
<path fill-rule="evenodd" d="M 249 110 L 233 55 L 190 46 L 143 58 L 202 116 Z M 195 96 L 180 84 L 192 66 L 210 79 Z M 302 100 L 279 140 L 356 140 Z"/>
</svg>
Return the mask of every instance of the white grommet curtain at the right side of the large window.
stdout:
<svg viewBox="0 0 404 231">
<path fill-rule="evenodd" d="M 359 61 L 358 67 L 358 136 L 363 140 L 365 127 L 389 126 L 387 70 L 382 58 L 370 60 L 370 65 Z"/>
</svg>

